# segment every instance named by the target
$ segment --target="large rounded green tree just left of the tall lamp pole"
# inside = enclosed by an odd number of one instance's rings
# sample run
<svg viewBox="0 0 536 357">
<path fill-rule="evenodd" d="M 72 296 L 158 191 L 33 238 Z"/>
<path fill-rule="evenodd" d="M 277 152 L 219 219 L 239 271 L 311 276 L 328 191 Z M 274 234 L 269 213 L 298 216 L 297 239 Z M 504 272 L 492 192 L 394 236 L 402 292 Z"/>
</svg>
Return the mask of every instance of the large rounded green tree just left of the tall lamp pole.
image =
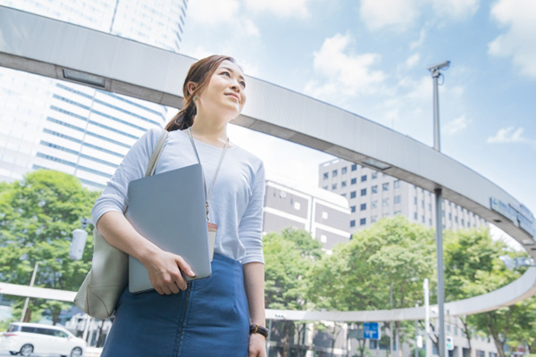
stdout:
<svg viewBox="0 0 536 357">
<path fill-rule="evenodd" d="M 423 279 L 435 280 L 434 256 L 431 229 L 403 216 L 382 219 L 314 266 L 309 295 L 319 307 L 339 311 L 413 307 L 423 298 Z"/>
</svg>

